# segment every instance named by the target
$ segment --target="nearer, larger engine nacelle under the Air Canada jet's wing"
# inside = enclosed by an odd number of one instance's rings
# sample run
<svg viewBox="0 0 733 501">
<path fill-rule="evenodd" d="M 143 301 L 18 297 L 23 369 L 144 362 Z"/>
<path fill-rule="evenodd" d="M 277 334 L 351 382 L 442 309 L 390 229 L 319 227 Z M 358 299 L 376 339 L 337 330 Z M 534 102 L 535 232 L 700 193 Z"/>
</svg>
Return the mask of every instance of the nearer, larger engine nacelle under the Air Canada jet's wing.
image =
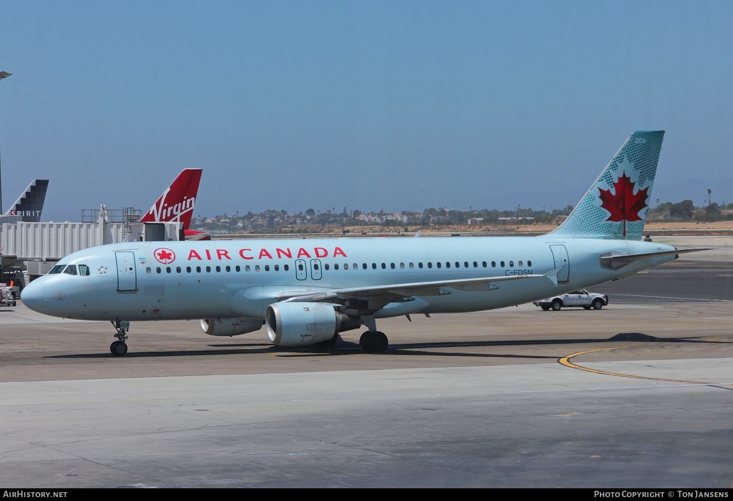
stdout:
<svg viewBox="0 0 733 501">
<path fill-rule="evenodd" d="M 336 333 L 358 329 L 361 319 L 339 313 L 324 303 L 274 303 L 265 313 L 268 338 L 280 346 L 306 346 L 328 341 Z"/>
</svg>

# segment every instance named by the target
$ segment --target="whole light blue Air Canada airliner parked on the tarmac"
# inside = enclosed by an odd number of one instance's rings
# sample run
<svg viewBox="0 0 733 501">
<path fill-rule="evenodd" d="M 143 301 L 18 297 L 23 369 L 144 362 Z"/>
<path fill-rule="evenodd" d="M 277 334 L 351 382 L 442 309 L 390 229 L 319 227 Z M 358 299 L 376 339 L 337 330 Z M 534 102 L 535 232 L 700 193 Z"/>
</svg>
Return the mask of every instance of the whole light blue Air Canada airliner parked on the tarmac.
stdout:
<svg viewBox="0 0 733 501">
<path fill-rule="evenodd" d="M 265 326 L 281 346 L 330 346 L 379 319 L 529 303 L 633 275 L 703 248 L 641 241 L 663 130 L 637 130 L 580 203 L 539 237 L 126 242 L 66 256 L 23 289 L 34 311 L 108 320 L 113 355 L 130 321 L 200 319 L 209 335 Z"/>
</svg>

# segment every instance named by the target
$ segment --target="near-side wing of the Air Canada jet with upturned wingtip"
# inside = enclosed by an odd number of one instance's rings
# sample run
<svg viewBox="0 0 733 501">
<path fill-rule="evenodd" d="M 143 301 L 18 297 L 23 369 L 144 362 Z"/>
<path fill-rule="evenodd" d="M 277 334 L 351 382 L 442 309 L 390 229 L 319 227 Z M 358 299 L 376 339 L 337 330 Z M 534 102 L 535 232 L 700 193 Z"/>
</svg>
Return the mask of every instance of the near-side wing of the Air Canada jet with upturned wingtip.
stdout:
<svg viewBox="0 0 733 501">
<path fill-rule="evenodd" d="M 490 290 L 491 283 L 517 281 L 517 280 L 533 280 L 536 278 L 546 278 L 550 282 L 557 285 L 557 273 L 562 267 L 556 268 L 545 275 L 510 275 L 498 277 L 481 277 L 481 278 L 464 278 L 458 280 L 442 280 L 430 282 L 411 282 L 411 283 L 390 283 L 380 286 L 367 287 L 351 287 L 348 289 L 328 289 L 320 292 L 283 292 L 277 295 L 277 299 L 281 301 L 302 302 L 328 300 L 332 297 L 346 299 L 350 297 L 375 297 L 384 295 L 394 296 L 437 296 L 441 294 L 440 289 L 443 287 L 451 289 L 463 289 L 470 291 Z"/>
</svg>

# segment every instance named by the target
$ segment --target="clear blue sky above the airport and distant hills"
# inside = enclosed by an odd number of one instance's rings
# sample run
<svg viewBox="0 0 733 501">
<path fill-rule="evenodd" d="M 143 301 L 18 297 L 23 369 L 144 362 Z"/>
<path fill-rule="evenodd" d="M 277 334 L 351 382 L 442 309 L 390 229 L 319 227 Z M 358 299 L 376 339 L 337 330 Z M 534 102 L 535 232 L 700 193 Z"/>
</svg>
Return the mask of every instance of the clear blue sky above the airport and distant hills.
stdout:
<svg viewBox="0 0 733 501">
<path fill-rule="evenodd" d="M 575 204 L 666 130 L 652 206 L 733 202 L 731 1 L 0 4 L 3 211 Z"/>
</svg>

